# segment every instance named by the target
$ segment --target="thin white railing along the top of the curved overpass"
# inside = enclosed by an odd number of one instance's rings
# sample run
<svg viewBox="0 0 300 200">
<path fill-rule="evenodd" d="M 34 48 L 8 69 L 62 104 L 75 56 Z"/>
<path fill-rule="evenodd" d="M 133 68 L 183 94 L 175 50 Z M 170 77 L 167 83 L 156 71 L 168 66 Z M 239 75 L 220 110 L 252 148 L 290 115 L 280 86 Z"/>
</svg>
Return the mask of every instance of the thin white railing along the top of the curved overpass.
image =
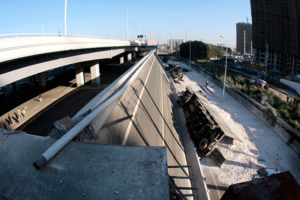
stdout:
<svg viewBox="0 0 300 200">
<path fill-rule="evenodd" d="M 29 36 L 63 36 L 63 34 L 57 33 L 15 33 L 15 34 L 0 34 L 1 39 L 5 38 L 13 38 L 13 37 L 29 37 Z M 124 39 L 116 39 L 110 37 L 101 37 L 101 36 L 93 36 L 93 35 L 78 35 L 78 34 L 67 34 L 67 37 L 82 37 L 82 38 L 98 38 L 98 39 L 112 39 L 119 41 L 126 41 Z"/>
</svg>

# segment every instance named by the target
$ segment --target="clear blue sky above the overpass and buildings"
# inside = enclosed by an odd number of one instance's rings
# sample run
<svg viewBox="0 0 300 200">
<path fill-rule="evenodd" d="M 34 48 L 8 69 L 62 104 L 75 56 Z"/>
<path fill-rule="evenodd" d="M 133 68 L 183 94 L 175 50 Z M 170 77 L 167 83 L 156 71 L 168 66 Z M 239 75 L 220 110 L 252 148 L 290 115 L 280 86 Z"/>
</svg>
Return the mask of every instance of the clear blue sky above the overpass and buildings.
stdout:
<svg viewBox="0 0 300 200">
<path fill-rule="evenodd" d="M 165 43 L 170 38 L 226 43 L 235 47 L 237 22 L 251 23 L 250 0 L 67 0 L 66 33 L 126 38 L 128 6 L 129 39 L 138 34 Z M 6 0 L 1 2 L 0 34 L 63 33 L 64 0 Z M 162 33 L 164 37 L 162 38 Z"/>
</svg>

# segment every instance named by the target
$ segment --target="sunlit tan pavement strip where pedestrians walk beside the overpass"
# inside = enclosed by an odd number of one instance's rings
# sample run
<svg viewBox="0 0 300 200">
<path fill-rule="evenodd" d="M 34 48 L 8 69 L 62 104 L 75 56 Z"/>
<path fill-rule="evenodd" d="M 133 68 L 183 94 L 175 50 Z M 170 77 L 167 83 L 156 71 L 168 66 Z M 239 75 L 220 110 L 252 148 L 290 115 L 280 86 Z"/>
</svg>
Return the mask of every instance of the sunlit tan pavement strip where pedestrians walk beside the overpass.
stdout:
<svg viewBox="0 0 300 200">
<path fill-rule="evenodd" d="M 3 123 L 5 124 L 5 118 L 7 118 L 9 114 L 12 121 L 12 124 L 9 125 L 9 128 L 11 128 L 11 130 L 15 130 L 24 122 L 30 119 L 34 119 L 34 116 L 38 117 L 37 114 L 40 113 L 40 111 L 44 110 L 52 103 L 58 102 L 57 100 L 66 97 L 66 94 L 69 95 L 76 89 L 76 87 L 58 86 L 44 93 L 41 93 L 42 101 L 39 101 L 39 96 L 37 95 L 0 116 L 0 127 L 4 128 Z M 12 118 L 15 117 L 13 112 L 17 113 L 18 107 L 21 113 L 23 113 L 22 110 L 24 108 L 27 115 L 26 117 L 23 117 L 22 115 L 20 116 L 20 123 L 15 122 L 15 120 Z"/>
</svg>

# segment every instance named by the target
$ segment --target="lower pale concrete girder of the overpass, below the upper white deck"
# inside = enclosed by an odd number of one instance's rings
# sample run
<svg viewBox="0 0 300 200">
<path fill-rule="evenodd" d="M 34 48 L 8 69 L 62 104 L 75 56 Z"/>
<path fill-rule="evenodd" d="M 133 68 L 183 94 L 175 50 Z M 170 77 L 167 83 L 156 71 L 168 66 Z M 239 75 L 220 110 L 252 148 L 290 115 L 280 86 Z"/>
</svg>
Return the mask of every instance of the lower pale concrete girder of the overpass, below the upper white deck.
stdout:
<svg viewBox="0 0 300 200">
<path fill-rule="evenodd" d="M 83 61 L 89 61 L 89 60 L 112 58 L 126 51 L 137 51 L 138 48 L 140 47 L 138 46 L 112 47 L 112 48 L 98 49 L 98 51 L 96 51 L 95 49 L 84 49 L 82 50 L 82 54 L 79 54 L 77 52 L 77 53 L 73 53 L 74 55 L 65 56 L 65 57 L 59 57 L 59 55 L 56 55 L 56 56 L 52 56 L 53 57 L 52 59 L 43 58 L 48 60 L 40 61 L 26 66 L 22 66 L 21 64 L 19 64 L 20 65 L 19 68 L 0 74 L 0 86 L 9 84 L 11 82 L 22 79 L 24 77 L 41 73 L 43 71 L 58 66 L 63 66 L 66 64 L 83 62 Z M 44 56 L 51 57 L 50 54 L 46 54 Z M 23 64 L 25 65 L 26 63 Z M 6 67 L 9 67 L 9 65 Z"/>
</svg>

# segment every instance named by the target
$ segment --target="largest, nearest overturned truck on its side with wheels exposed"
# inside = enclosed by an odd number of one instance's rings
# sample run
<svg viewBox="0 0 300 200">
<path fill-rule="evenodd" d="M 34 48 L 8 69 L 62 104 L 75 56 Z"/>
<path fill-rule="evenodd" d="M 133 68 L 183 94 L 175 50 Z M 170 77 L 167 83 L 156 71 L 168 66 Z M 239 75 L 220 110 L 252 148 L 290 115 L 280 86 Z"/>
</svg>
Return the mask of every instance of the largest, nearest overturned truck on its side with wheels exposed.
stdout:
<svg viewBox="0 0 300 200">
<path fill-rule="evenodd" d="M 225 135 L 239 138 L 210 105 L 204 93 L 193 92 L 187 86 L 176 102 L 183 108 L 185 124 L 195 146 L 203 152 L 204 156 L 210 155 L 218 165 L 222 165 L 225 158 L 217 150 L 216 144 Z"/>
</svg>

